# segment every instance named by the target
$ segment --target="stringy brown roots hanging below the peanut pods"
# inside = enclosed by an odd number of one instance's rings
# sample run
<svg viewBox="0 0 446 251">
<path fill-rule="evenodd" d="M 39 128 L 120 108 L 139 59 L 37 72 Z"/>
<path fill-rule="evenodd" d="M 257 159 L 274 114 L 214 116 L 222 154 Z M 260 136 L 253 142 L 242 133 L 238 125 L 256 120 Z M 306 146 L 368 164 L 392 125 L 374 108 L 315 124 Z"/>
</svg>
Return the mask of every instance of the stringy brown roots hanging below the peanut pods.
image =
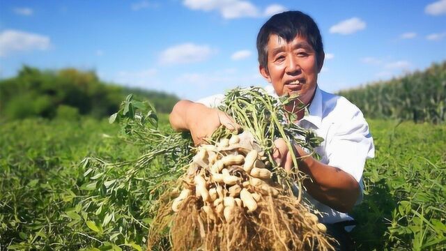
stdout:
<svg viewBox="0 0 446 251">
<path fill-rule="evenodd" d="M 317 222 L 305 217 L 308 211 L 296 198 L 263 196 L 253 213 L 237 207 L 231 222 L 210 220 L 200 211 L 202 204 L 190 196 L 178 213 L 160 213 L 148 237 L 148 250 L 165 242 L 168 236 L 157 232 L 167 227 L 169 220 L 172 250 L 334 250 L 332 238 L 318 231 Z"/>
</svg>

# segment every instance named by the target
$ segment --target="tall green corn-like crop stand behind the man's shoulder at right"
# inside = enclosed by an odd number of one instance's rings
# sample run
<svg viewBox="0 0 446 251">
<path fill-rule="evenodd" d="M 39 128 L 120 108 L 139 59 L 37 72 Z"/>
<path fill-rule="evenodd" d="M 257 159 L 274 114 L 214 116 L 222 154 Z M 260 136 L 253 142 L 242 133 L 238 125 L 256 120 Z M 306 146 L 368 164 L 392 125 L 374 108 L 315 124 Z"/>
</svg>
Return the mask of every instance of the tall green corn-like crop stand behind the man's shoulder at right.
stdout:
<svg viewBox="0 0 446 251">
<path fill-rule="evenodd" d="M 387 82 L 340 91 L 369 118 L 415 122 L 446 119 L 446 61 Z"/>
</svg>

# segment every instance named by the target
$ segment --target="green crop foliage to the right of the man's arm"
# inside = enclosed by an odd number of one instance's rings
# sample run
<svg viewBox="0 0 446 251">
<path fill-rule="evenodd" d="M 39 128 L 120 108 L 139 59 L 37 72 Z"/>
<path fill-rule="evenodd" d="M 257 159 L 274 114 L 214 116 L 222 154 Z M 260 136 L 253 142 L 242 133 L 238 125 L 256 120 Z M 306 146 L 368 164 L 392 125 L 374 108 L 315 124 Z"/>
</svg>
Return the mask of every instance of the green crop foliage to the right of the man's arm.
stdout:
<svg viewBox="0 0 446 251">
<path fill-rule="evenodd" d="M 376 158 L 353 215 L 361 250 L 439 250 L 446 245 L 446 126 L 370 121 Z"/>
</svg>

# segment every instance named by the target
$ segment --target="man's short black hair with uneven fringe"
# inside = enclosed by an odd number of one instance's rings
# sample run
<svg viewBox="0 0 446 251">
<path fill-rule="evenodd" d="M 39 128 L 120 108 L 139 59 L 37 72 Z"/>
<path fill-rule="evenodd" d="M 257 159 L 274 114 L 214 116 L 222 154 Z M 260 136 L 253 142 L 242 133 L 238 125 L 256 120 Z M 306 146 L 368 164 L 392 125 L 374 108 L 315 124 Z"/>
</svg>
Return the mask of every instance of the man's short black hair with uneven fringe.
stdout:
<svg viewBox="0 0 446 251">
<path fill-rule="evenodd" d="M 284 38 L 287 43 L 291 42 L 295 36 L 307 38 L 307 41 L 316 51 L 317 59 L 321 59 L 323 54 L 323 44 L 321 32 L 316 22 L 309 15 L 298 10 L 290 10 L 284 13 L 273 15 L 261 27 L 257 34 L 257 53 L 259 54 L 259 64 L 268 70 L 268 39 L 271 34 Z M 318 64 L 321 63 L 318 61 Z"/>
</svg>

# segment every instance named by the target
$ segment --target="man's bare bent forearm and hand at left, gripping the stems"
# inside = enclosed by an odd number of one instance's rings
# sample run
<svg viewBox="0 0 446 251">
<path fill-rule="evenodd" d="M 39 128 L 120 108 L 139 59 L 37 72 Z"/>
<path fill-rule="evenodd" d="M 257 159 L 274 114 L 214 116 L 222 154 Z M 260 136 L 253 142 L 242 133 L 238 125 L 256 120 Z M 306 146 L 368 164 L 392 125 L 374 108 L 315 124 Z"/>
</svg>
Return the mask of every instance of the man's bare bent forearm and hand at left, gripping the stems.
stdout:
<svg viewBox="0 0 446 251">
<path fill-rule="evenodd" d="M 169 121 L 174 130 L 189 130 L 196 145 L 203 143 L 203 139 L 210 138 L 221 125 L 229 130 L 236 130 L 239 127 L 231 116 L 219 109 L 189 100 L 176 103 Z"/>
</svg>

